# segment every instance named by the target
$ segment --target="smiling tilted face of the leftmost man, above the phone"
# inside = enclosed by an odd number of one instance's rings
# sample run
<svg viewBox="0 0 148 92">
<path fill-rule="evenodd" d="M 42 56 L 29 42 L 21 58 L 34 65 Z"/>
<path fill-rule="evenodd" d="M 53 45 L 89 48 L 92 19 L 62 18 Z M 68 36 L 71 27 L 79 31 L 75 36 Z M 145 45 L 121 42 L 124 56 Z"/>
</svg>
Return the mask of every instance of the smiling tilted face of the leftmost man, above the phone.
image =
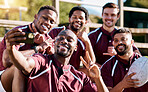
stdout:
<svg viewBox="0 0 148 92">
<path fill-rule="evenodd" d="M 45 34 L 54 27 L 56 20 L 57 15 L 54 11 L 44 9 L 35 15 L 35 26 L 40 33 Z"/>
</svg>

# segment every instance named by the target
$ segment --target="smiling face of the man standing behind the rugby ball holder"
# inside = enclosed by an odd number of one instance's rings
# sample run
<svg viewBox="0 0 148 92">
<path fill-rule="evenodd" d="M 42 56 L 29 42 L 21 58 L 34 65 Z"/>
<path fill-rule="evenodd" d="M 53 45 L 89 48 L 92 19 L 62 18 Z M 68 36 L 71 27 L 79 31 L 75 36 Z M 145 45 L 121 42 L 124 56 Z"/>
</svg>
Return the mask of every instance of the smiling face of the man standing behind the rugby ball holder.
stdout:
<svg viewBox="0 0 148 92">
<path fill-rule="evenodd" d="M 115 26 L 117 20 L 119 19 L 117 8 L 105 8 L 102 13 L 103 24 L 106 27 Z"/>
</svg>

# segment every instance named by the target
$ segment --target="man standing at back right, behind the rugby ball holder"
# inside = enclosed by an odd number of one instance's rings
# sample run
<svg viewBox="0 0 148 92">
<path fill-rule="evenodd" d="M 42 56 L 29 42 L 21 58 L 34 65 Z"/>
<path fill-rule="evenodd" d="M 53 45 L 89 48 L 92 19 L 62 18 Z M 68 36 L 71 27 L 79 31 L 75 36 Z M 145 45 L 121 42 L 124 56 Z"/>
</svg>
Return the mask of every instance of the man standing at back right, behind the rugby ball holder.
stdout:
<svg viewBox="0 0 148 92">
<path fill-rule="evenodd" d="M 120 10 L 114 3 L 107 3 L 102 9 L 103 25 L 94 31 L 91 31 L 88 36 L 92 44 L 96 56 L 96 63 L 101 66 L 107 59 L 115 55 L 116 52 L 112 46 L 112 34 L 115 30 L 115 24 L 120 17 Z M 135 52 L 139 52 L 138 48 L 134 47 Z"/>
</svg>

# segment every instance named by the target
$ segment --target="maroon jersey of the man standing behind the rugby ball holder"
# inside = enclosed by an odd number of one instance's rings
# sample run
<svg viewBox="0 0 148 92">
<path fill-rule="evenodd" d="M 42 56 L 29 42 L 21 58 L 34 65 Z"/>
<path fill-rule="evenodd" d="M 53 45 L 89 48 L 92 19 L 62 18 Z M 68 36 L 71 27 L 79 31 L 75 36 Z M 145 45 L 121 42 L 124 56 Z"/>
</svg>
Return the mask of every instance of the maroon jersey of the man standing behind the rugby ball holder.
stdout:
<svg viewBox="0 0 148 92">
<path fill-rule="evenodd" d="M 103 53 L 107 53 L 108 46 L 113 46 L 112 35 L 116 30 L 117 29 L 114 28 L 114 30 L 111 33 L 109 33 L 103 27 L 100 27 L 94 31 L 91 31 L 88 34 L 88 37 L 91 41 L 91 45 L 96 56 L 97 63 L 102 65 L 106 60 L 108 60 L 111 57 L 109 55 L 103 55 Z M 137 50 L 138 48 L 133 45 L 133 49 Z"/>
</svg>

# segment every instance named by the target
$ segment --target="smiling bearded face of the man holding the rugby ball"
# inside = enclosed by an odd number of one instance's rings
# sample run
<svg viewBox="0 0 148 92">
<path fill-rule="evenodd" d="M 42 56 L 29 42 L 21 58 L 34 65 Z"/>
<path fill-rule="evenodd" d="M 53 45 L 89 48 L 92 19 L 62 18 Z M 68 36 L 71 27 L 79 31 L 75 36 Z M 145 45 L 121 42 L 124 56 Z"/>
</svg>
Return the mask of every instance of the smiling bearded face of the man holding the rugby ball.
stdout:
<svg viewBox="0 0 148 92">
<path fill-rule="evenodd" d="M 131 34 L 117 33 L 114 36 L 113 45 L 118 55 L 122 56 L 128 53 L 132 47 L 133 40 Z"/>
</svg>

